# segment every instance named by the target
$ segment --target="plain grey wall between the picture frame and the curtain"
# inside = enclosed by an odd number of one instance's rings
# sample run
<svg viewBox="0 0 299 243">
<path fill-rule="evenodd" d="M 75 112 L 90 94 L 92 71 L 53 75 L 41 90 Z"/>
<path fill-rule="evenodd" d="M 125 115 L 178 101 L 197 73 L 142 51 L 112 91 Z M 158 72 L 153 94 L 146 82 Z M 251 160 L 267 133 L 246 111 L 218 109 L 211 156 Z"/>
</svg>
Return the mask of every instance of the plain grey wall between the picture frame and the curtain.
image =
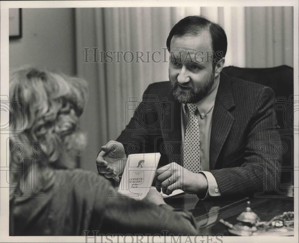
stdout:
<svg viewBox="0 0 299 243">
<path fill-rule="evenodd" d="M 75 74 L 72 8 L 22 9 L 22 38 L 9 41 L 9 68 L 25 64 Z"/>
</svg>

